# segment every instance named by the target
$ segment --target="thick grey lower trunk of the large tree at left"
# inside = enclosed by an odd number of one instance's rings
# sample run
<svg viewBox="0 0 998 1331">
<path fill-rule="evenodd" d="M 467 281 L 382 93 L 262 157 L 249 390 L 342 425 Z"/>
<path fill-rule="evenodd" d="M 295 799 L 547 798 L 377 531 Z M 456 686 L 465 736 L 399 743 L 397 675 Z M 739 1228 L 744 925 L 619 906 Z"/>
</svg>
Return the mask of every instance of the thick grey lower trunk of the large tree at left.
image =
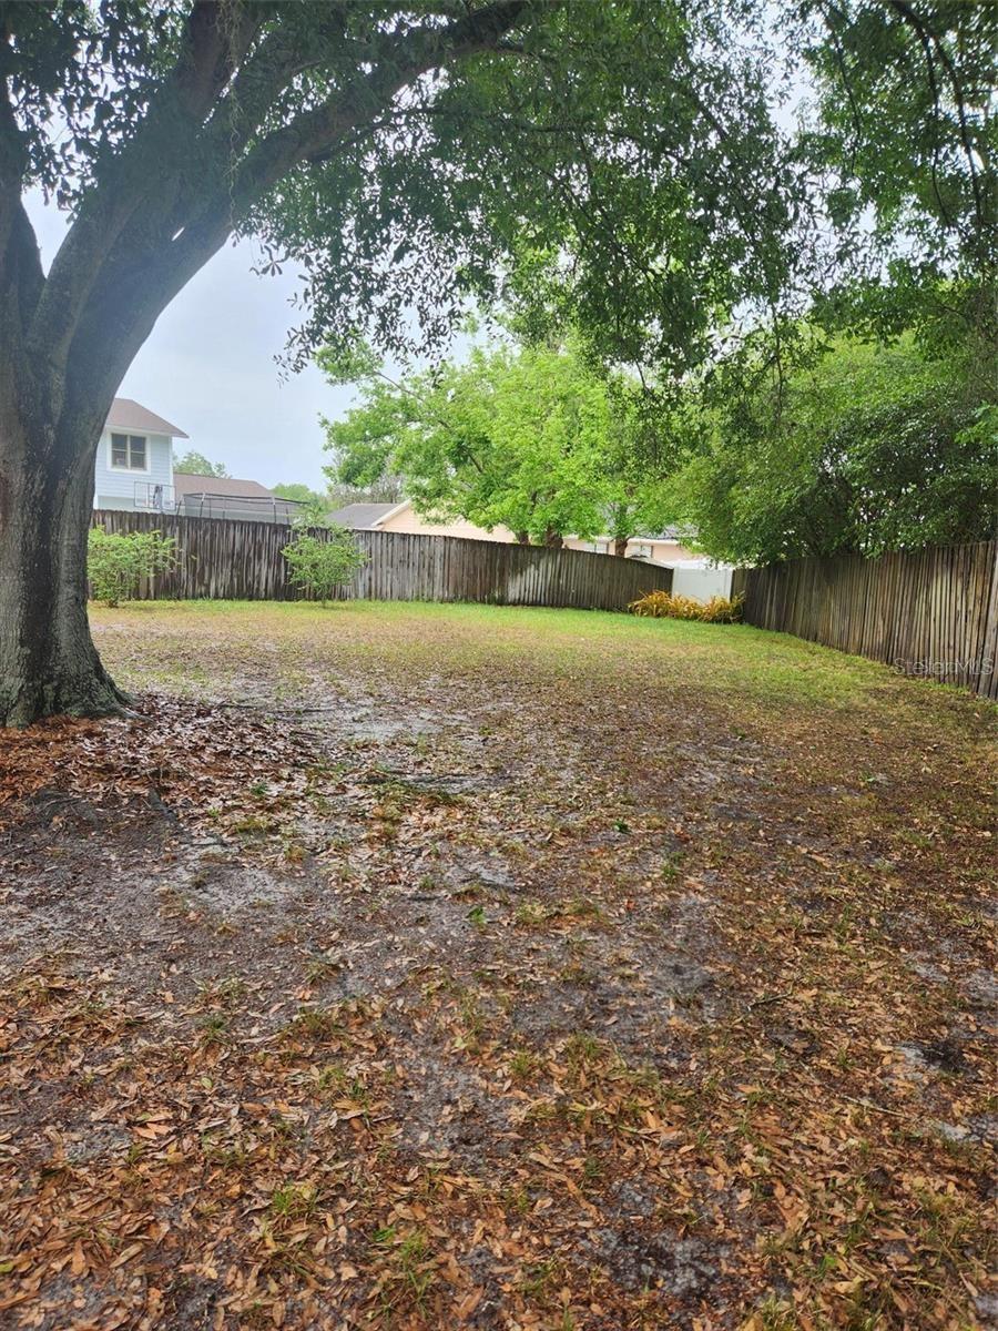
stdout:
<svg viewBox="0 0 998 1331">
<path fill-rule="evenodd" d="M 86 620 L 101 419 L 77 419 L 69 449 L 67 423 L 56 427 L 31 411 L 0 418 L 0 725 L 106 716 L 126 701 L 101 666 Z"/>
</svg>

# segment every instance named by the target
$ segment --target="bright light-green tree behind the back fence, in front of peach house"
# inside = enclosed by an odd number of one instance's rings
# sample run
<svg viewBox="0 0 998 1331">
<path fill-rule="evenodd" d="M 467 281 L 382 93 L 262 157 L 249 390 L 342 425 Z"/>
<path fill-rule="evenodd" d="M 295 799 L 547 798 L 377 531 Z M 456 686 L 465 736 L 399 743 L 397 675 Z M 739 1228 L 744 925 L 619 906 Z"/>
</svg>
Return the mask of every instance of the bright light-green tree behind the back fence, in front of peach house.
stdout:
<svg viewBox="0 0 998 1331">
<path fill-rule="evenodd" d="M 567 346 L 476 346 L 467 361 L 387 378 L 373 362 L 319 357 L 333 382 L 366 369 L 362 403 L 325 422 L 335 483 L 399 475 L 423 516 L 464 518 L 559 546 L 657 528 L 655 478 L 633 465 L 627 394 Z M 660 487 L 659 487 L 660 488 Z"/>
</svg>

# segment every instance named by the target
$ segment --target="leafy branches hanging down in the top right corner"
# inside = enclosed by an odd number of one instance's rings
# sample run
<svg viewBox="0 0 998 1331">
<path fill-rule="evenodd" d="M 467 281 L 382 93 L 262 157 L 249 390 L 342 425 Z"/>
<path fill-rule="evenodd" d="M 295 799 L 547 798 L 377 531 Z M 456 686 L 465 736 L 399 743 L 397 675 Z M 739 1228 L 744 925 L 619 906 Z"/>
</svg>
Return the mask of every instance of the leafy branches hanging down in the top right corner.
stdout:
<svg viewBox="0 0 998 1331">
<path fill-rule="evenodd" d="M 801 150 L 838 253 L 861 261 L 822 313 L 897 334 L 926 317 L 938 330 L 949 309 L 994 334 L 998 8 L 806 0 L 800 12 L 805 31 L 817 21 L 800 47 L 816 92 Z"/>
</svg>

